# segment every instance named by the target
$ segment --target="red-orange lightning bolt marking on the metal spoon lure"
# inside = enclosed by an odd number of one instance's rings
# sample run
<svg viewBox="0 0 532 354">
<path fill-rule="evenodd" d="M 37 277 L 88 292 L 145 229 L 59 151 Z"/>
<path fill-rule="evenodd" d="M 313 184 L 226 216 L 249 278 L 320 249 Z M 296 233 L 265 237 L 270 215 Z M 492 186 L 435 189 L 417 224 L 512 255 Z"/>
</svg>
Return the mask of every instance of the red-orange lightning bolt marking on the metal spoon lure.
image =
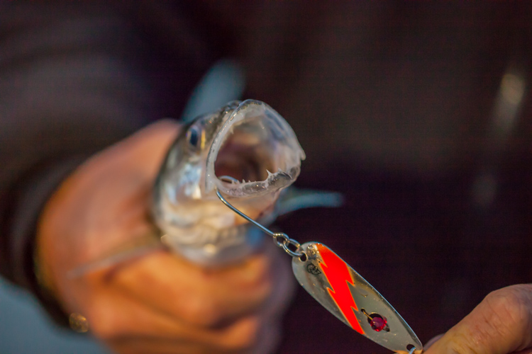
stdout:
<svg viewBox="0 0 532 354">
<path fill-rule="evenodd" d="M 327 288 L 329 295 L 334 299 L 336 306 L 343 313 L 345 319 L 348 320 L 351 328 L 360 334 L 364 334 L 353 312 L 353 309 L 358 311 L 358 307 L 348 287 L 348 282 L 353 284 L 353 277 L 351 277 L 348 265 L 328 247 L 322 244 L 316 244 L 316 246 L 323 260 L 323 263 L 320 263 L 320 268 L 323 270 L 323 274 L 325 274 L 331 287 L 333 287 L 333 289 Z"/>
</svg>

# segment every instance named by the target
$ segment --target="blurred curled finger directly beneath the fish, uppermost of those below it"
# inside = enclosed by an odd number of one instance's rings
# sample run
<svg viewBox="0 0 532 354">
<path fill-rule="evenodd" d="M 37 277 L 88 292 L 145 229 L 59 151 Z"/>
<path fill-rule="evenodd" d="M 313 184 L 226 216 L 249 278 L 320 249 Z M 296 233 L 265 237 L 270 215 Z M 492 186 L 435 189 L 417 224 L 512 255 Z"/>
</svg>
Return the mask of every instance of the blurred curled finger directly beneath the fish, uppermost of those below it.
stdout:
<svg viewBox="0 0 532 354">
<path fill-rule="evenodd" d="M 170 253 L 153 253 L 116 273 L 113 286 L 153 309 L 198 326 L 256 312 L 274 290 L 272 251 L 238 265 L 204 269 Z"/>
</svg>

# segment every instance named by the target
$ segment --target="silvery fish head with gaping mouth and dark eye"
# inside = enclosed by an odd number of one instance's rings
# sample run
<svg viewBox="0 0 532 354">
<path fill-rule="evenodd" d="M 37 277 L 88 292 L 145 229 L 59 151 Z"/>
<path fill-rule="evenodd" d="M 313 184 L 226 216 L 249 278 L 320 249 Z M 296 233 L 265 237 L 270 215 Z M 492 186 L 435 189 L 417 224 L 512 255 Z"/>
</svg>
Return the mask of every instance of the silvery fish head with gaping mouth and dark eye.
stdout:
<svg viewBox="0 0 532 354">
<path fill-rule="evenodd" d="M 247 223 L 216 190 L 260 218 L 297 179 L 304 158 L 292 127 L 269 105 L 228 103 L 189 123 L 170 147 L 155 183 L 155 221 L 177 244 L 212 243 L 221 230 Z"/>
</svg>

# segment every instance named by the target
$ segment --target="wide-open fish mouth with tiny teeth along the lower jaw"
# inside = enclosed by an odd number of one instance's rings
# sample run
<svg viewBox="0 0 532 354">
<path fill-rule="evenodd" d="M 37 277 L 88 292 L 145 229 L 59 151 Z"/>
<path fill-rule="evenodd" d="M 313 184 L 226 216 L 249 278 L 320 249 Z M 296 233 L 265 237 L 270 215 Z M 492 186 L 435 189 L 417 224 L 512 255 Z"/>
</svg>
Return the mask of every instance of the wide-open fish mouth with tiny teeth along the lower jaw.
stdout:
<svg viewBox="0 0 532 354">
<path fill-rule="evenodd" d="M 292 184 L 305 154 L 284 118 L 254 100 L 227 114 L 207 156 L 206 192 L 218 188 L 234 198 L 257 197 Z"/>
</svg>

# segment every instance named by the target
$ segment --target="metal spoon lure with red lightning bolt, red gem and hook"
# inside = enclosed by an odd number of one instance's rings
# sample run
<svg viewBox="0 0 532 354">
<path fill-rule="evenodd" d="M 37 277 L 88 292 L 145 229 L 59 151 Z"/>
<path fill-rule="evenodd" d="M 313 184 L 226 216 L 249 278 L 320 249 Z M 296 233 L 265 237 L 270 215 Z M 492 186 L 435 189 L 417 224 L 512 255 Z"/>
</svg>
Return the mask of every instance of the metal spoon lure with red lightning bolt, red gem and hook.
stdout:
<svg viewBox="0 0 532 354">
<path fill-rule="evenodd" d="M 272 236 L 275 244 L 292 256 L 292 271 L 299 284 L 336 318 L 396 353 L 423 351 L 416 333 L 392 305 L 331 249 L 314 241 L 301 245 L 287 234 L 272 232 L 231 205 L 219 190 L 216 195 L 233 212 Z"/>
</svg>

